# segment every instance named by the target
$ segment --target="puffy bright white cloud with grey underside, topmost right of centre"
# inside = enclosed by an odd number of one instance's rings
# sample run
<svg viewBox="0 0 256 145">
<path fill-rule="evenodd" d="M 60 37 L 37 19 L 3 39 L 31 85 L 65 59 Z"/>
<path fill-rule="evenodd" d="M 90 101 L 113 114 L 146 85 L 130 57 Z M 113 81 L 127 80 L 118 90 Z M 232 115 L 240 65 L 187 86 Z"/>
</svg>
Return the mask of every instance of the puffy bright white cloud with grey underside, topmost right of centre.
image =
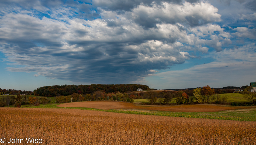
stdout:
<svg viewBox="0 0 256 145">
<path fill-rule="evenodd" d="M 134 21 L 146 28 L 156 27 L 158 23 L 185 23 L 191 27 L 220 21 L 218 9 L 209 3 L 188 2 L 183 5 L 163 2 L 161 6 L 139 5 L 132 10 Z"/>
</svg>

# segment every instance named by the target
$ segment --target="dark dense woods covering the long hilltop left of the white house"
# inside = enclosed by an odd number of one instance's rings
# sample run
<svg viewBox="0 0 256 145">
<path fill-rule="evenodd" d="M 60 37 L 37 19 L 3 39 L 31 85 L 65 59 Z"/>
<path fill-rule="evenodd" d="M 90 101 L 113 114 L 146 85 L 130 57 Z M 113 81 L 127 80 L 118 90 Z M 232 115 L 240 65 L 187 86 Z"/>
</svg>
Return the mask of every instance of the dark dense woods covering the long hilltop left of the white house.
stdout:
<svg viewBox="0 0 256 145">
<path fill-rule="evenodd" d="M 147 85 L 139 84 L 117 84 L 117 85 L 103 85 L 103 84 L 91 84 L 91 85 L 53 85 L 44 86 L 34 90 L 34 95 L 37 96 L 68 96 L 73 93 L 77 94 L 92 94 L 95 91 L 104 91 L 105 93 L 112 92 L 132 92 L 137 91 L 138 88 L 142 90 L 148 90 Z"/>
</svg>

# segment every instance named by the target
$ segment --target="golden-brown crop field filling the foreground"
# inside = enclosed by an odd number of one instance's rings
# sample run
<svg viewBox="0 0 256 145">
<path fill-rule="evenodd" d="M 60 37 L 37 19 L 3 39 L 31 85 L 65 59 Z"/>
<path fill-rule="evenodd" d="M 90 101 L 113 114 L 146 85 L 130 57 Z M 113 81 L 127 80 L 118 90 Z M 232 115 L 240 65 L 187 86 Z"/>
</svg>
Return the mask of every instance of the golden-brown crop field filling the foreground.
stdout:
<svg viewBox="0 0 256 145">
<path fill-rule="evenodd" d="M 250 121 L 37 108 L 0 108 L 0 116 L 0 137 L 23 139 L 19 144 L 28 137 L 47 145 L 256 144 L 256 122 Z"/>
</svg>

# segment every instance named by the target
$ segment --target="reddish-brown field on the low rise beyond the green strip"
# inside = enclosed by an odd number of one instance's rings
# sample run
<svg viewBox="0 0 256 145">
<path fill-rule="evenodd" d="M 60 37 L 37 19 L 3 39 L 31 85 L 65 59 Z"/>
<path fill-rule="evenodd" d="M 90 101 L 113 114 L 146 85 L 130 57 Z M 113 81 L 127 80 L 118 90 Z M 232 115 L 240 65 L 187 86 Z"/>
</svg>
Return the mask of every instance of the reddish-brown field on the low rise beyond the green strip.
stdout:
<svg viewBox="0 0 256 145">
<path fill-rule="evenodd" d="M 86 107 L 95 109 L 141 109 L 141 110 L 159 110 L 173 112 L 217 112 L 224 110 L 250 109 L 249 106 L 224 106 L 224 105 L 178 105 L 178 106 L 156 106 L 156 105 L 136 105 L 133 103 L 116 101 L 86 101 L 72 102 L 57 105 L 58 107 Z"/>
</svg>

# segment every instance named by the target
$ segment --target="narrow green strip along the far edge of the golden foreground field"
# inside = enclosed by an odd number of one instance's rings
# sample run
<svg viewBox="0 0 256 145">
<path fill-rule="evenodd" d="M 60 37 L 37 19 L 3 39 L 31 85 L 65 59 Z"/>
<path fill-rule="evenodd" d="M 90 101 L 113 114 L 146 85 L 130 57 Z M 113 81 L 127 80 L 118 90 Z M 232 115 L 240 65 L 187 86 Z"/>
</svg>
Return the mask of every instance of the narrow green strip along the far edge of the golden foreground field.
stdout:
<svg viewBox="0 0 256 145">
<path fill-rule="evenodd" d="M 236 121 L 256 121 L 256 117 L 229 117 L 229 116 L 210 116 L 210 115 L 173 114 L 173 113 L 169 114 L 169 113 L 165 113 L 165 112 L 103 110 L 103 109 L 83 108 L 83 107 L 57 107 L 57 105 L 59 105 L 59 104 L 41 105 L 41 106 L 33 106 L 33 107 L 27 107 L 27 108 L 80 109 L 80 110 L 94 110 L 94 111 L 104 111 L 104 112 L 114 112 L 114 113 L 169 116 L 169 117 L 206 118 L 206 119 L 236 120 Z"/>
</svg>

